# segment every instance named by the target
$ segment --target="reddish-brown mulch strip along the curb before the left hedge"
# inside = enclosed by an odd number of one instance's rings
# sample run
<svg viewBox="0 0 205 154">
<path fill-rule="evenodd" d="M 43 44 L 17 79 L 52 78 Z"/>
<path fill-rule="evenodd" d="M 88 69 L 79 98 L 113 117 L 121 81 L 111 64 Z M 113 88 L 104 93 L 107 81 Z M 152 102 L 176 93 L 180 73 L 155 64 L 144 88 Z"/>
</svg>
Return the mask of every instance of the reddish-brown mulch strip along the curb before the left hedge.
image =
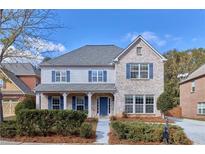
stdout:
<svg viewBox="0 0 205 154">
<path fill-rule="evenodd" d="M 80 143 L 80 144 L 91 144 L 95 142 L 96 137 L 93 136 L 92 138 L 86 139 L 79 136 L 59 136 L 59 135 L 52 135 L 52 136 L 16 136 L 14 138 L 2 138 L 5 141 L 14 141 L 14 142 L 32 142 L 32 143 Z"/>
</svg>

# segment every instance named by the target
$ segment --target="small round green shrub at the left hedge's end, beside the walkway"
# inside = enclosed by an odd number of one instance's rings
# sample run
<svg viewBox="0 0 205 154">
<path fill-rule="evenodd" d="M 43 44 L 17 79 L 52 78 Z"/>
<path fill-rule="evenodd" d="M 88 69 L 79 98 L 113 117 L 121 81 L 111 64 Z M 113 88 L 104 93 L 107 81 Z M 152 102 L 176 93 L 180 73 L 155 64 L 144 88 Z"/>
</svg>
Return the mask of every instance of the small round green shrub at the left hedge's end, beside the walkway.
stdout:
<svg viewBox="0 0 205 154">
<path fill-rule="evenodd" d="M 80 136 L 90 138 L 93 135 L 92 125 L 89 123 L 83 123 L 80 127 Z"/>
</svg>

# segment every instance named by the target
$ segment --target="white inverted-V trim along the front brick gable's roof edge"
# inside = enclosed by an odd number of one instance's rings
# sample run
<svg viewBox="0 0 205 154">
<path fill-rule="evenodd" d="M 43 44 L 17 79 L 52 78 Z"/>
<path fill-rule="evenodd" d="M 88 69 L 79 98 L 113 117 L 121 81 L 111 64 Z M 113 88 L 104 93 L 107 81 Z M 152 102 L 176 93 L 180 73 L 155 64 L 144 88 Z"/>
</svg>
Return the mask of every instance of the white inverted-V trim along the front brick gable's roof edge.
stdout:
<svg viewBox="0 0 205 154">
<path fill-rule="evenodd" d="M 155 48 L 153 48 L 141 35 L 139 35 L 132 43 L 130 43 L 128 45 L 127 48 L 125 48 L 115 59 L 114 59 L 114 62 L 117 62 L 119 61 L 120 57 L 125 54 L 127 52 L 127 50 L 133 45 L 135 44 L 139 39 L 141 39 L 146 45 L 148 45 L 153 51 L 154 53 L 159 57 L 161 58 L 162 61 L 167 61 L 167 59 L 162 56 Z"/>
</svg>

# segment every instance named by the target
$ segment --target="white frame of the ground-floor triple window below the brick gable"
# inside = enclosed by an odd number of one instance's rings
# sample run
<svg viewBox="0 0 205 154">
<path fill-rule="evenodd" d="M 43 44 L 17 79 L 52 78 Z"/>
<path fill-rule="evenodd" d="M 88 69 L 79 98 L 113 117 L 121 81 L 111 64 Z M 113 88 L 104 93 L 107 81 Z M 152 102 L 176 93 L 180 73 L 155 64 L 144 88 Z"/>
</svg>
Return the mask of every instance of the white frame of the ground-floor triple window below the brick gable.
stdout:
<svg viewBox="0 0 205 154">
<path fill-rule="evenodd" d="M 125 95 L 125 100 L 126 100 L 126 96 L 131 96 L 131 97 L 133 97 L 133 103 L 132 103 L 132 113 L 127 113 L 127 114 L 155 114 L 156 113 L 156 111 L 155 111 L 155 106 L 156 106 L 156 103 L 155 103 L 155 96 L 154 95 L 152 95 L 152 94 L 147 94 L 147 95 L 144 95 L 144 94 L 137 94 L 137 95 Z M 135 108 L 135 106 L 136 106 L 136 96 L 143 96 L 143 113 L 136 113 L 136 108 Z M 146 113 L 146 105 L 150 105 L 150 104 L 146 104 L 146 97 L 147 96 L 152 96 L 153 97 L 153 113 Z M 128 104 L 126 104 L 126 102 L 125 102 L 125 106 L 126 105 L 128 105 Z M 126 108 L 126 107 L 125 107 Z M 125 109 L 124 108 L 124 109 Z"/>
</svg>

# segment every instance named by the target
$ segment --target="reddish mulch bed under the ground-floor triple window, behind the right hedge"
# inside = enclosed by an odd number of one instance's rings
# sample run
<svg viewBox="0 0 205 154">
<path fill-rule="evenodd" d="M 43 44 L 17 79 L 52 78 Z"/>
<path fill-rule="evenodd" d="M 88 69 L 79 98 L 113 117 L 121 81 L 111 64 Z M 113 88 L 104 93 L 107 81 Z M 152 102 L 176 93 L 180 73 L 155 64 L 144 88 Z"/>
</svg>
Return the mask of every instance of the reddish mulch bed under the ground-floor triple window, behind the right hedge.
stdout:
<svg viewBox="0 0 205 154">
<path fill-rule="evenodd" d="M 127 117 L 127 118 L 117 118 L 116 120 L 165 123 L 165 120 L 162 119 L 161 117 Z M 169 123 L 174 123 L 174 121 L 169 120 Z"/>
</svg>

